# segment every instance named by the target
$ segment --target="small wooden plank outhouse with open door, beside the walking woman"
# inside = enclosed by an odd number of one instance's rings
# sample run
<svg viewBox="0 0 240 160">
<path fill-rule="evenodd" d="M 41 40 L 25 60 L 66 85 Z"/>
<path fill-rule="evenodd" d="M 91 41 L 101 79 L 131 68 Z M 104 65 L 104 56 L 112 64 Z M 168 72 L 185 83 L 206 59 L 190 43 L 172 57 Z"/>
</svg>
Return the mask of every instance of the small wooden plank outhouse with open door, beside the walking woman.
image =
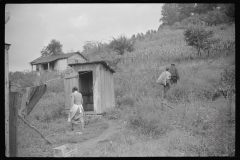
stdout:
<svg viewBox="0 0 240 160">
<path fill-rule="evenodd" d="M 77 86 L 83 96 L 85 112 L 103 113 L 115 107 L 113 73 L 105 61 L 70 64 L 73 73 L 64 79 L 65 108 L 70 109 L 72 88 Z"/>
</svg>

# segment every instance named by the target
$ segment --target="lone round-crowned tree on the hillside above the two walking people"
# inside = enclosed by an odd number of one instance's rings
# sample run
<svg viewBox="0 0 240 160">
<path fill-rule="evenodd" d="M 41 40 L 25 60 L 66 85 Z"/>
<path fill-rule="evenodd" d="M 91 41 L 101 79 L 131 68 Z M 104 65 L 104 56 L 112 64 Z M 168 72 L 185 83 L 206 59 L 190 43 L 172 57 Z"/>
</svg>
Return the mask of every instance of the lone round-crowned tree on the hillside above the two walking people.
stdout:
<svg viewBox="0 0 240 160">
<path fill-rule="evenodd" d="M 209 51 L 211 44 L 216 41 L 212 37 L 213 31 L 208 31 L 202 26 L 190 26 L 184 32 L 185 41 L 189 46 L 196 48 L 198 57 L 201 57 L 201 51 Z"/>
</svg>

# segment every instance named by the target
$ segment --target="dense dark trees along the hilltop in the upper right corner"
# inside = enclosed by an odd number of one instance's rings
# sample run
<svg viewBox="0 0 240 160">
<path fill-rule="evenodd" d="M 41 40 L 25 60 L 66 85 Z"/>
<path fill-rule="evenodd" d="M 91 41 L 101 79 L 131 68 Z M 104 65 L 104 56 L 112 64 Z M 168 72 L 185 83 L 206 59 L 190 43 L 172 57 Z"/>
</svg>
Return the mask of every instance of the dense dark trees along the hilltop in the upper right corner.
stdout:
<svg viewBox="0 0 240 160">
<path fill-rule="evenodd" d="M 217 25 L 228 21 L 235 21 L 235 4 L 218 3 L 169 3 L 162 7 L 160 21 L 163 26 L 171 26 L 194 15 L 207 25 Z M 199 16 L 201 15 L 201 16 Z M 195 17 L 197 16 L 197 17 Z"/>
</svg>

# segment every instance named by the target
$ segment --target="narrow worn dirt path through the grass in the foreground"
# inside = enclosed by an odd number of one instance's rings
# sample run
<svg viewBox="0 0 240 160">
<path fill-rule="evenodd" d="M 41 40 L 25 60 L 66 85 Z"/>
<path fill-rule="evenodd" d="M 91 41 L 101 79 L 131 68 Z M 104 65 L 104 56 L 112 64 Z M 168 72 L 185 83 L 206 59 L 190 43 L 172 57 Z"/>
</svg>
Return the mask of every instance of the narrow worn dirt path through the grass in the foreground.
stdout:
<svg viewBox="0 0 240 160">
<path fill-rule="evenodd" d="M 76 157 L 81 157 L 85 152 L 89 151 L 89 149 L 96 146 L 98 142 L 106 140 L 110 135 L 118 132 L 119 129 L 121 129 L 121 126 L 117 122 L 113 122 L 105 118 L 103 118 L 103 122 L 108 124 L 108 128 L 103 131 L 100 136 L 87 140 L 83 143 L 78 143 Z"/>
</svg>

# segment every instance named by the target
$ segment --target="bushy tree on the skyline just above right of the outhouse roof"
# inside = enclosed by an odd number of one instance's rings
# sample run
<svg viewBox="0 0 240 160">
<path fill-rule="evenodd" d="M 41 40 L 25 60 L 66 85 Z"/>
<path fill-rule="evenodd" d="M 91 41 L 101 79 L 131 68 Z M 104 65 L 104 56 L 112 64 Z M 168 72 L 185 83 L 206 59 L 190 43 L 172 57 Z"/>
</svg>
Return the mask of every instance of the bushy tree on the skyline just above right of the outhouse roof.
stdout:
<svg viewBox="0 0 240 160">
<path fill-rule="evenodd" d="M 127 37 L 121 35 L 118 38 L 113 38 L 108 47 L 117 52 L 118 55 L 123 55 L 127 51 L 134 51 L 134 42 L 135 41 L 128 40 Z"/>
</svg>

